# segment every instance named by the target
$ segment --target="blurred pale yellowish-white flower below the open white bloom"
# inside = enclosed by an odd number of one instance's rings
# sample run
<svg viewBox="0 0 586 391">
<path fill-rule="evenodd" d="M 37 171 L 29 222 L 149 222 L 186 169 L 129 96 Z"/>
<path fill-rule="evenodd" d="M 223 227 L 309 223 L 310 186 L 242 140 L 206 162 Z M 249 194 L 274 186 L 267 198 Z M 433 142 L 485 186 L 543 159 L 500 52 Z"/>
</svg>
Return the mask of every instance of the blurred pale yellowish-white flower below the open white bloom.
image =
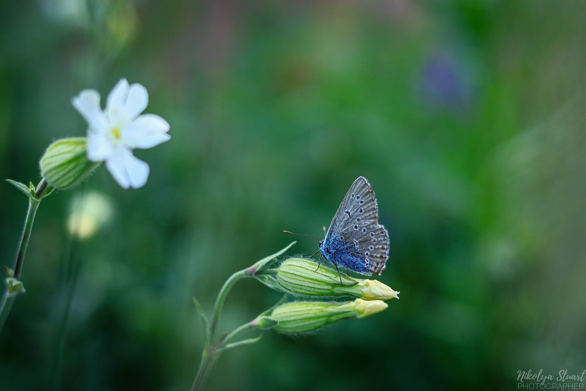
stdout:
<svg viewBox="0 0 586 391">
<path fill-rule="evenodd" d="M 88 239 L 112 217 L 112 203 L 102 193 L 92 191 L 71 201 L 67 219 L 69 233 L 79 239 Z"/>
</svg>

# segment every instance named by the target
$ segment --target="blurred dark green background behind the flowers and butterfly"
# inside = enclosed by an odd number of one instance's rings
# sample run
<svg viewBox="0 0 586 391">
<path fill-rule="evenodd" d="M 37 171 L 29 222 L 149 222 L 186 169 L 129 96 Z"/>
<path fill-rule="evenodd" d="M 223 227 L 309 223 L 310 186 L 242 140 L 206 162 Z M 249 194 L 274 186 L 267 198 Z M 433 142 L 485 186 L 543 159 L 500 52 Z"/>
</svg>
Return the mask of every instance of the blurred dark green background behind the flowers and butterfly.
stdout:
<svg viewBox="0 0 586 391">
<path fill-rule="evenodd" d="M 26 294 L 0 335 L 2 390 L 186 390 L 230 274 L 322 236 L 372 183 L 391 250 L 381 314 L 223 355 L 209 390 L 516 389 L 517 370 L 586 366 L 586 4 L 578 1 L 76 1 L 0 5 L 0 178 L 39 180 L 81 136 L 71 97 L 147 87 L 172 140 L 135 151 L 147 185 L 104 167 L 37 213 Z M 73 240 L 71 203 L 112 218 Z M 26 200 L 0 184 L 0 264 Z M 299 238 L 289 254 L 311 254 Z M 68 271 L 69 270 L 69 271 Z M 63 328 L 67 275 L 77 276 Z M 221 329 L 279 294 L 231 292 Z M 53 380 L 52 380 L 53 379 Z"/>
</svg>

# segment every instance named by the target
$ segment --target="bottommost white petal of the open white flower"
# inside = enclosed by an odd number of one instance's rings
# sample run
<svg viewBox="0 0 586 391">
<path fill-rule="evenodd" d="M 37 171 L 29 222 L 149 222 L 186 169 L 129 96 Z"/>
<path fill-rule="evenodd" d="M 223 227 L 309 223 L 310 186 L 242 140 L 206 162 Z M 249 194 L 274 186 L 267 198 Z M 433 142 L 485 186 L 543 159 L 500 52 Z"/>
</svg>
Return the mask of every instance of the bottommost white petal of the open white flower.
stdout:
<svg viewBox="0 0 586 391">
<path fill-rule="evenodd" d="M 147 183 L 149 166 L 128 149 L 117 149 L 106 161 L 106 168 L 124 189 L 138 189 Z"/>
</svg>

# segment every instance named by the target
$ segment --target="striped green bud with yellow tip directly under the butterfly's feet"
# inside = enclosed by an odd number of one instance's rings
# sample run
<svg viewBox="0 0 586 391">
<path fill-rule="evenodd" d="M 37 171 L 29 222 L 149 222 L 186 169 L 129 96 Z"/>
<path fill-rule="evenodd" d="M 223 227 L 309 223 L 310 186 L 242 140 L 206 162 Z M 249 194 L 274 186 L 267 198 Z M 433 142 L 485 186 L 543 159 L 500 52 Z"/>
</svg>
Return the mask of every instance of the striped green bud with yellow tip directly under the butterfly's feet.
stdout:
<svg viewBox="0 0 586 391">
<path fill-rule="evenodd" d="M 317 270 L 316 270 L 317 269 Z M 340 286 L 342 278 L 342 286 Z M 339 275 L 329 267 L 317 268 L 306 259 L 289 259 L 277 268 L 277 282 L 288 293 L 317 297 L 352 296 L 364 300 L 398 298 L 398 292 L 376 280 L 360 280 Z"/>
</svg>

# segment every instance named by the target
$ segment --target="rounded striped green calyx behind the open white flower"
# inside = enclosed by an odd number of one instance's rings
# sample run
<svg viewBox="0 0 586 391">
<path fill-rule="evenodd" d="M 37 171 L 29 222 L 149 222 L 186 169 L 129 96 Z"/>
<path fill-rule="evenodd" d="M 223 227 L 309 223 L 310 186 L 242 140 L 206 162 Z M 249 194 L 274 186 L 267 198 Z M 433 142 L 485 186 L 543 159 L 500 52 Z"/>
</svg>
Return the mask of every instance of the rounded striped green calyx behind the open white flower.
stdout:
<svg viewBox="0 0 586 391">
<path fill-rule="evenodd" d="M 62 138 L 49 145 L 40 158 L 40 171 L 49 185 L 67 189 L 83 181 L 98 166 L 86 154 L 85 137 Z"/>
</svg>

